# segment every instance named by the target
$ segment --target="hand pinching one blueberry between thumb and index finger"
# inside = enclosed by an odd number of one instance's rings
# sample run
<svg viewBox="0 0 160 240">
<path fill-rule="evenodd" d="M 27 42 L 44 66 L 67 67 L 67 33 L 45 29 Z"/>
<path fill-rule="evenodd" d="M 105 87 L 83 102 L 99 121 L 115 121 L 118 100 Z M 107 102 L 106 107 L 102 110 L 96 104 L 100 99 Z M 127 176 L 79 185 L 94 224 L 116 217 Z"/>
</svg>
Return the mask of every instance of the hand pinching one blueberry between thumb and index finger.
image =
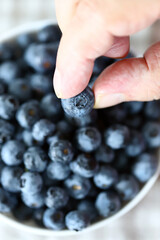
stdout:
<svg viewBox="0 0 160 240">
<path fill-rule="evenodd" d="M 97 57 L 124 57 L 129 36 L 160 18 L 159 0 L 55 0 L 55 6 L 63 33 L 54 75 L 59 98 L 80 93 Z M 142 58 L 107 67 L 93 91 L 95 108 L 160 99 L 160 42 L 149 47 Z"/>
</svg>

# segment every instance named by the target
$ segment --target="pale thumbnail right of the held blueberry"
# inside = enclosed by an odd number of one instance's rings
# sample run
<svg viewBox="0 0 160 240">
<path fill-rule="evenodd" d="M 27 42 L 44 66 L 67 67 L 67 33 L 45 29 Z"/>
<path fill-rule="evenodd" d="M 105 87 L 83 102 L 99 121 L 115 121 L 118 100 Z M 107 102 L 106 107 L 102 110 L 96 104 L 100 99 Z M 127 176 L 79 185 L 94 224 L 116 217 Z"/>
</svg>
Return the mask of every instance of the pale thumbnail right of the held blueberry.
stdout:
<svg viewBox="0 0 160 240">
<path fill-rule="evenodd" d="M 114 93 L 110 95 L 99 94 L 96 96 L 94 108 L 111 107 L 125 102 L 125 100 L 126 96 L 123 93 Z"/>
</svg>

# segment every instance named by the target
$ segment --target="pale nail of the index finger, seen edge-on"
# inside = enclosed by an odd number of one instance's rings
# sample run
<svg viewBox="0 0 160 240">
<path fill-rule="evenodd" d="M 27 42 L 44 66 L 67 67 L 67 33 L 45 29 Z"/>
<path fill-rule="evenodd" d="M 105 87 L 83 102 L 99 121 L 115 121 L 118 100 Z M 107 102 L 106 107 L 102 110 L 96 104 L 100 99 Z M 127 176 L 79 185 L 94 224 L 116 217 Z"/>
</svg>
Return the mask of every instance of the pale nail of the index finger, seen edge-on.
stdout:
<svg viewBox="0 0 160 240">
<path fill-rule="evenodd" d="M 62 79 L 61 79 L 61 74 L 57 68 L 54 72 L 53 83 L 54 83 L 54 89 L 57 97 L 62 98 L 62 88 L 61 88 Z"/>
</svg>

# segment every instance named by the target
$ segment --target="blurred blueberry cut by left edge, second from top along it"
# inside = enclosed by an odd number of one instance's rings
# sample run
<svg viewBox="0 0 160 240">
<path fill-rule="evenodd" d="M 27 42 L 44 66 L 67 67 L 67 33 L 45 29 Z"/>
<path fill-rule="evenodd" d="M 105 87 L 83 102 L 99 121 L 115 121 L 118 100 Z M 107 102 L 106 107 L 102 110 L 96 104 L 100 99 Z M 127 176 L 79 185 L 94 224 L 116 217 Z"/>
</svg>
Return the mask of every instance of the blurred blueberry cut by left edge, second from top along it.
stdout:
<svg viewBox="0 0 160 240">
<path fill-rule="evenodd" d="M 0 65 L 0 79 L 10 84 L 13 79 L 21 76 L 20 68 L 16 61 L 6 61 Z"/>
</svg>

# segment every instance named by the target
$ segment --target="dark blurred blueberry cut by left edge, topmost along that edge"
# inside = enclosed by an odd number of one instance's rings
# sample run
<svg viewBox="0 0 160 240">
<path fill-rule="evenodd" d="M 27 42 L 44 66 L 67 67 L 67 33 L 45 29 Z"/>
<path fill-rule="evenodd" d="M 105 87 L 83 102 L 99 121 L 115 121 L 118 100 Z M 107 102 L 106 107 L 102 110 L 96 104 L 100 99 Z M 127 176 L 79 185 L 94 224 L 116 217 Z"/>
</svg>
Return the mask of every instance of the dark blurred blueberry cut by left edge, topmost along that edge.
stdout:
<svg viewBox="0 0 160 240">
<path fill-rule="evenodd" d="M 13 58 L 13 49 L 9 43 L 0 43 L 0 62 Z"/>
</svg>

